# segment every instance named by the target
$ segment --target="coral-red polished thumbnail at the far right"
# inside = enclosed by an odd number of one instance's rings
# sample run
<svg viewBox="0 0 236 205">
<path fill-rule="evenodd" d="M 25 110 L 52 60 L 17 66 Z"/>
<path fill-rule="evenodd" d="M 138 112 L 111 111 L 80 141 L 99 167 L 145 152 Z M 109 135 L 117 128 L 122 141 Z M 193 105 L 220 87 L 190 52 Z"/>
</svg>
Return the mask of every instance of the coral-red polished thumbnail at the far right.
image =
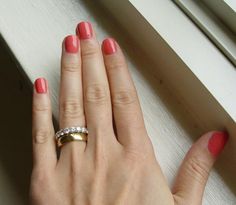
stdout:
<svg viewBox="0 0 236 205">
<path fill-rule="evenodd" d="M 214 132 L 208 141 L 208 150 L 213 156 L 217 156 L 224 149 L 228 141 L 228 134 L 225 132 Z"/>
</svg>

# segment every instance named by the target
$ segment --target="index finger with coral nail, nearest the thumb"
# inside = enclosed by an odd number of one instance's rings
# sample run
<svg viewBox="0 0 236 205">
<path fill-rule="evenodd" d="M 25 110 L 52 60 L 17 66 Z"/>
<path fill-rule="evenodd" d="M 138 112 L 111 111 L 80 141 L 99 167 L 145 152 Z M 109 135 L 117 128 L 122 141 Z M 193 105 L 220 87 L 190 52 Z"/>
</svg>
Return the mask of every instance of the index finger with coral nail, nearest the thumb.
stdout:
<svg viewBox="0 0 236 205">
<path fill-rule="evenodd" d="M 124 55 L 112 38 L 103 41 L 102 50 L 110 84 L 118 140 L 127 146 L 143 146 L 147 137 L 140 138 L 138 136 L 147 135 L 136 89 Z"/>
</svg>

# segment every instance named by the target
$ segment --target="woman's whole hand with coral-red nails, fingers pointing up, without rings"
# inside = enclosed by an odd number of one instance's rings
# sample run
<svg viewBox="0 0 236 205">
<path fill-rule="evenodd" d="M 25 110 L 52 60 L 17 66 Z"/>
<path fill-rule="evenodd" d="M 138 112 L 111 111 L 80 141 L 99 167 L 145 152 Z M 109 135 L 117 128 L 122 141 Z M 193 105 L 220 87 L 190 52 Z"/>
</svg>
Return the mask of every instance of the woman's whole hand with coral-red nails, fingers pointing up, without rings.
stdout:
<svg viewBox="0 0 236 205">
<path fill-rule="evenodd" d="M 35 205 L 195 205 L 227 135 L 203 135 L 171 190 L 154 156 L 137 93 L 119 45 L 102 49 L 88 22 L 63 42 L 60 128 L 86 126 L 87 142 L 69 142 L 57 159 L 45 79 L 35 81 L 31 200 Z"/>
</svg>

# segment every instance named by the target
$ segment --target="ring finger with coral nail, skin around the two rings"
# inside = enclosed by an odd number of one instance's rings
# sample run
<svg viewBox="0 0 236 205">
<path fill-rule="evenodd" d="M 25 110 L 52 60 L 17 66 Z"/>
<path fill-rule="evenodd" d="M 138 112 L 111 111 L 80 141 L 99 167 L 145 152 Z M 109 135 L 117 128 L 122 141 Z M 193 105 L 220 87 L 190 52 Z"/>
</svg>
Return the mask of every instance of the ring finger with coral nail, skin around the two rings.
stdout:
<svg viewBox="0 0 236 205">
<path fill-rule="evenodd" d="M 62 45 L 61 87 L 60 87 L 60 128 L 85 126 L 82 92 L 81 57 L 79 39 L 69 35 Z M 85 142 L 70 142 L 63 146 L 76 146 L 84 150 Z M 66 149 L 67 150 L 67 149 Z"/>
</svg>

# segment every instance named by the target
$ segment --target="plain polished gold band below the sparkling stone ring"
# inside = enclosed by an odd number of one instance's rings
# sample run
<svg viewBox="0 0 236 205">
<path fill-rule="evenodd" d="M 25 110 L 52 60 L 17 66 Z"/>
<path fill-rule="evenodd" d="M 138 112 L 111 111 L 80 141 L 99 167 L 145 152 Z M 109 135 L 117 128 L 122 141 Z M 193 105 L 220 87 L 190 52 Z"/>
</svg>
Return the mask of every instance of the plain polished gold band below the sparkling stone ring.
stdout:
<svg viewBox="0 0 236 205">
<path fill-rule="evenodd" d="M 67 142 L 72 142 L 72 141 L 87 141 L 87 134 L 85 133 L 68 133 L 63 135 L 57 140 L 57 145 L 61 147 Z"/>
</svg>

